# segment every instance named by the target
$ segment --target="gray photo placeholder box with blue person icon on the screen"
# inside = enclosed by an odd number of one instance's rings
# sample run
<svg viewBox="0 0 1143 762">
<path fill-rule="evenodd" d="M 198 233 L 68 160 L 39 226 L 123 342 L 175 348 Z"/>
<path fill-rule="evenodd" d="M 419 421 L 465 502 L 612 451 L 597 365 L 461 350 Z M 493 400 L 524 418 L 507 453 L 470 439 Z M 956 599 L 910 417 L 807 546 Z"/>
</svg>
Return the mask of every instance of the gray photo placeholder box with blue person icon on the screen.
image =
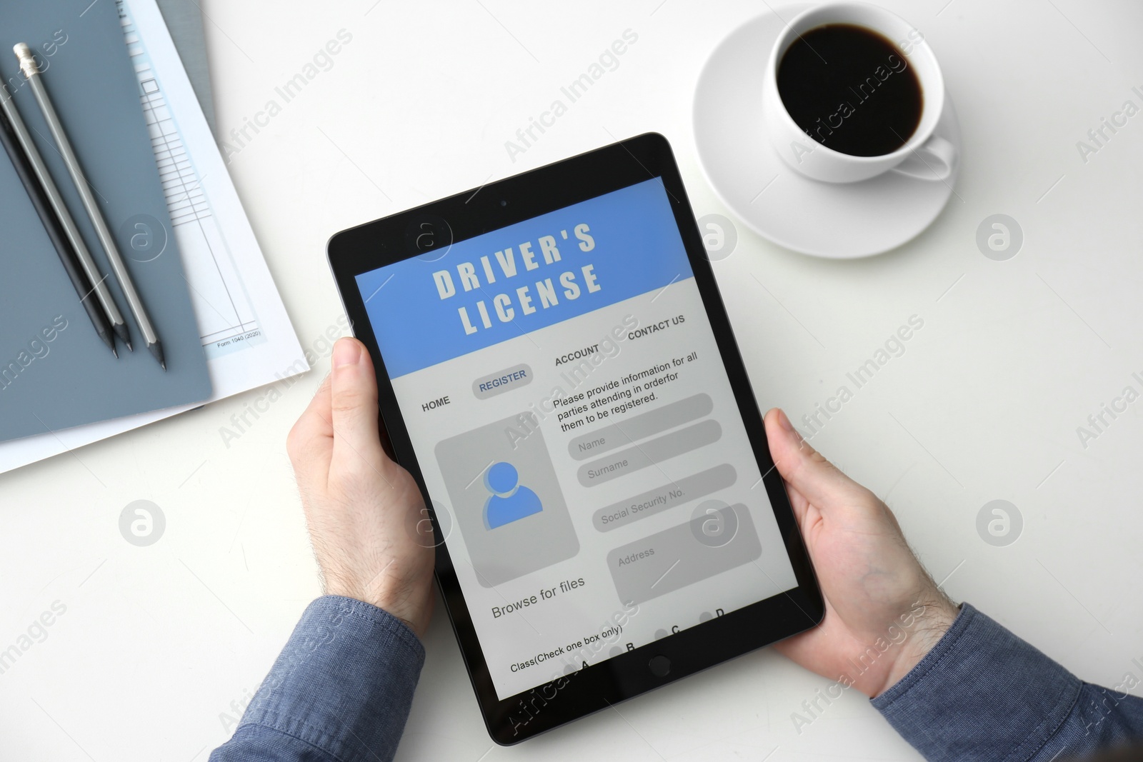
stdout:
<svg viewBox="0 0 1143 762">
<path fill-rule="evenodd" d="M 435 454 L 481 585 L 506 583 L 580 552 L 534 414 L 442 440 Z"/>
</svg>

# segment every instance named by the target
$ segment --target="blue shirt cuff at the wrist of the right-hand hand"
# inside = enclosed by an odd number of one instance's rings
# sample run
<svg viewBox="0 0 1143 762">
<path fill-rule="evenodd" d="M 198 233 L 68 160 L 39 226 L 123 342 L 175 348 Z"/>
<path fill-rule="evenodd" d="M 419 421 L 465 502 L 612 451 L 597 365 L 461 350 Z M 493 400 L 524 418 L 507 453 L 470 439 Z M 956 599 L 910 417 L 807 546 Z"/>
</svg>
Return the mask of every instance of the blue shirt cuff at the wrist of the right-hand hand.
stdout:
<svg viewBox="0 0 1143 762">
<path fill-rule="evenodd" d="M 1080 681 L 965 603 L 873 706 L 926 760 L 1026 760 L 1066 720 Z"/>
</svg>

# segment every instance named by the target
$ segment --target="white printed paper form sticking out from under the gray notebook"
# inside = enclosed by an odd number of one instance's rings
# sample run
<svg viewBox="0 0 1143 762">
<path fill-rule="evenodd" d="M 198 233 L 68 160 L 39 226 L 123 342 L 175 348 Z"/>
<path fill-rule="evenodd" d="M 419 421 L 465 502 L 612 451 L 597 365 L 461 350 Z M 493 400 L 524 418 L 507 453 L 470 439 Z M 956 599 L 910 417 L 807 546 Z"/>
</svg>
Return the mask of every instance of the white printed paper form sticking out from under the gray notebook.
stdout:
<svg viewBox="0 0 1143 762">
<path fill-rule="evenodd" d="M 310 366 L 155 0 L 117 6 L 214 384 L 209 401 L 305 372 Z M 139 235 L 161 235 L 141 224 Z M 0 443 L 0 473 L 195 407 Z"/>
</svg>

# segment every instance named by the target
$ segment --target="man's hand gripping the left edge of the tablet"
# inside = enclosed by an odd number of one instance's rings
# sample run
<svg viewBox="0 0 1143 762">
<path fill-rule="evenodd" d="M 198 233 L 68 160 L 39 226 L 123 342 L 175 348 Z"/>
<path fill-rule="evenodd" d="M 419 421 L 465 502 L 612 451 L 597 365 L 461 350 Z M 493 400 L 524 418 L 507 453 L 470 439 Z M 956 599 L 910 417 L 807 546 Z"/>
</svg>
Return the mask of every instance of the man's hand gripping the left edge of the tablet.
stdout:
<svg viewBox="0 0 1143 762">
<path fill-rule="evenodd" d="M 333 371 L 287 440 L 313 553 L 330 595 L 384 609 L 424 635 L 433 537 L 416 482 L 377 430 L 377 379 L 365 345 L 343 338 Z"/>
</svg>

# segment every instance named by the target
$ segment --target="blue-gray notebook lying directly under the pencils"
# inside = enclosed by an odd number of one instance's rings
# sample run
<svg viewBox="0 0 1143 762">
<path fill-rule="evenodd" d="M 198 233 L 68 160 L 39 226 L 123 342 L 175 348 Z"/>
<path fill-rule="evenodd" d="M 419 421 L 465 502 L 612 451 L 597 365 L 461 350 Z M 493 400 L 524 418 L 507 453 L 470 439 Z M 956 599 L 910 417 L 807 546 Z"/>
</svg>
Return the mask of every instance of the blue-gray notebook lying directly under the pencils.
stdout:
<svg viewBox="0 0 1143 762">
<path fill-rule="evenodd" d="M 206 400 L 206 358 L 142 88 L 114 3 L 0 5 L 0 75 L 101 272 L 107 273 L 103 249 L 11 54 L 21 41 L 38 54 L 43 83 L 162 340 L 168 370 L 143 346 L 114 278 L 107 282 L 127 318 L 135 352 L 120 346 L 115 360 L 99 340 L 0 152 L 0 440 Z"/>
</svg>

